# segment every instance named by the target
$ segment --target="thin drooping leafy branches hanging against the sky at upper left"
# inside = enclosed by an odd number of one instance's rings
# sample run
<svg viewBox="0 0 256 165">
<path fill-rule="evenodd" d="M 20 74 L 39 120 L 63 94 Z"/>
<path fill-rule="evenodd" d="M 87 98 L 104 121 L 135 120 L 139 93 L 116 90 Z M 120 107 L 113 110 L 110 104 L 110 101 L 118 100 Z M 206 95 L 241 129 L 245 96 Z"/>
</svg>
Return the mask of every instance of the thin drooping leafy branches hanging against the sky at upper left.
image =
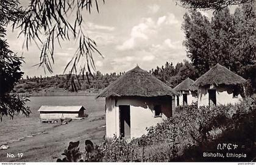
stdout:
<svg viewBox="0 0 256 165">
<path fill-rule="evenodd" d="M 104 0 L 103 0 L 104 2 Z M 23 10 L 24 15 L 20 19 L 13 21 L 13 27 L 21 29 L 20 35 L 24 35 L 24 46 L 29 49 L 29 44 L 34 41 L 40 47 L 40 63 L 49 72 L 53 72 L 54 64 L 54 41 L 57 40 L 61 46 L 61 41 L 80 40 L 77 51 L 74 52 L 74 63 L 69 71 L 70 74 L 77 74 L 76 65 L 85 57 L 87 71 L 91 74 L 91 69 L 95 70 L 93 54 L 101 53 L 97 45 L 90 37 L 86 37 L 84 23 L 84 10 L 91 13 L 93 3 L 99 12 L 98 0 L 31 0 L 29 6 Z M 71 15 L 75 14 L 74 21 Z M 20 36 L 19 35 L 19 36 Z M 46 37 L 45 39 L 43 39 Z M 39 44 L 38 44 L 39 43 Z M 68 68 L 66 65 L 65 71 Z M 85 71 L 85 70 L 84 70 Z"/>
</svg>

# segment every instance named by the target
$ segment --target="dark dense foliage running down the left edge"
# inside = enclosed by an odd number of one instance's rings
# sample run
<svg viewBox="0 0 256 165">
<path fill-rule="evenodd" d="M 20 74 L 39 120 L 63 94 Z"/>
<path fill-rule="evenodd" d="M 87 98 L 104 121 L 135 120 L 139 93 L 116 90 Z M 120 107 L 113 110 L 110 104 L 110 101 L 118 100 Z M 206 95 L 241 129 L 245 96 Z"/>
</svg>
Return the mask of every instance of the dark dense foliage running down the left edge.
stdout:
<svg viewBox="0 0 256 165">
<path fill-rule="evenodd" d="M 24 72 L 21 72 L 23 58 L 18 57 L 9 49 L 9 44 L 5 39 L 7 19 L 17 19 L 20 15 L 15 12 L 15 9 L 10 6 L 7 7 L 5 4 L 9 4 L 9 2 L 0 1 L 0 121 L 2 121 L 3 116 L 13 118 L 15 114 L 20 112 L 25 116 L 30 114 L 29 108 L 25 105 L 28 99 L 10 94 L 15 83 L 18 82 Z M 16 14 L 10 17 L 10 13 Z"/>
</svg>

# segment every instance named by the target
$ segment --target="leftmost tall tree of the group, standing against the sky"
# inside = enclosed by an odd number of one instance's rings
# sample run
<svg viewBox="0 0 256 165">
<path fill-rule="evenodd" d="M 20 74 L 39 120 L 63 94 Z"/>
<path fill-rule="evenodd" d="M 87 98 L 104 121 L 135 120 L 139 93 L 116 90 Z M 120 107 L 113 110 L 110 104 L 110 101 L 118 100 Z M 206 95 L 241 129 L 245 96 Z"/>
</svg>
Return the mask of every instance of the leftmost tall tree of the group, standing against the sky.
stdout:
<svg viewBox="0 0 256 165">
<path fill-rule="evenodd" d="M 187 48 L 187 56 L 199 74 L 210 68 L 210 44 L 213 32 L 210 30 L 210 21 L 196 10 L 190 10 L 183 16 L 182 29 L 186 40 L 183 45 Z"/>
</svg>

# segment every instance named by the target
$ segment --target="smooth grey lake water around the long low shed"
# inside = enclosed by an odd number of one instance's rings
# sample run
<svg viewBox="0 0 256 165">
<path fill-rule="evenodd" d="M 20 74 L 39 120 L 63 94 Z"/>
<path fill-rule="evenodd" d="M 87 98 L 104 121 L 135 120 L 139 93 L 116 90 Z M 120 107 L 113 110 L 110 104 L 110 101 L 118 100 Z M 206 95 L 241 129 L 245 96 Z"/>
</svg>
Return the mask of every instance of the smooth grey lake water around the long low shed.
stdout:
<svg viewBox="0 0 256 165">
<path fill-rule="evenodd" d="M 3 118 L 0 122 L 0 145 L 5 142 L 18 141 L 27 135 L 43 132 L 47 128 L 54 127 L 55 124 L 41 123 L 38 109 L 41 105 L 83 105 L 85 113 L 89 116 L 100 116 L 104 114 L 105 99 L 94 99 L 94 96 L 38 96 L 30 97 L 27 106 L 30 107 L 29 117 L 14 116 Z"/>
</svg>

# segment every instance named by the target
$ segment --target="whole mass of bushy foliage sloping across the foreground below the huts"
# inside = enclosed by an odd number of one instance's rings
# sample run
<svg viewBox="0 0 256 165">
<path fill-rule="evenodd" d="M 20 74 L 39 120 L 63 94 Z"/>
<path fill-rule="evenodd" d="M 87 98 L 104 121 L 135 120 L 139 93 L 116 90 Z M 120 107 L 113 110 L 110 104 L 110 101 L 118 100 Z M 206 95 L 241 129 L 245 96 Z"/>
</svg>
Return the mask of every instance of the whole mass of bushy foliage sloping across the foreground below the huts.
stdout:
<svg viewBox="0 0 256 165">
<path fill-rule="evenodd" d="M 246 144 L 246 160 L 255 155 L 256 97 L 250 97 L 236 105 L 219 105 L 215 108 L 197 104 L 177 107 L 173 118 L 155 127 L 147 128 L 141 138 L 126 139 L 114 136 L 105 139 L 100 146 L 82 152 L 82 161 L 206 161 L 202 152 L 216 147 L 219 142 Z M 92 152 L 93 151 L 93 152 Z M 223 161 L 213 159 L 212 161 Z"/>
</svg>

